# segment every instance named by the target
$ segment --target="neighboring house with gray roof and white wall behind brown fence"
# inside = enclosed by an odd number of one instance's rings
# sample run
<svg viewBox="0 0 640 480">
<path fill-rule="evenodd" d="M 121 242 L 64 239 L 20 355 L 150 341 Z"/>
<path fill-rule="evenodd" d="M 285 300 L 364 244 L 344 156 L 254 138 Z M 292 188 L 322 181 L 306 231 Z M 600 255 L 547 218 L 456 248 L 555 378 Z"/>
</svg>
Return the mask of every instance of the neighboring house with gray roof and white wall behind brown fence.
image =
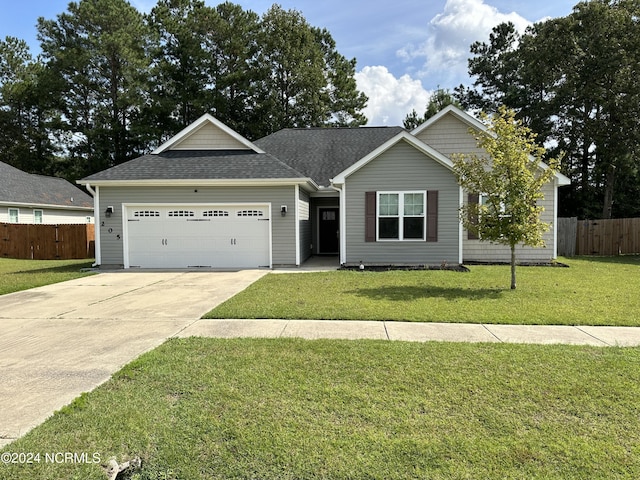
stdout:
<svg viewBox="0 0 640 480">
<path fill-rule="evenodd" d="M 93 223 L 93 198 L 64 178 L 0 162 L 0 223 Z"/>
</svg>

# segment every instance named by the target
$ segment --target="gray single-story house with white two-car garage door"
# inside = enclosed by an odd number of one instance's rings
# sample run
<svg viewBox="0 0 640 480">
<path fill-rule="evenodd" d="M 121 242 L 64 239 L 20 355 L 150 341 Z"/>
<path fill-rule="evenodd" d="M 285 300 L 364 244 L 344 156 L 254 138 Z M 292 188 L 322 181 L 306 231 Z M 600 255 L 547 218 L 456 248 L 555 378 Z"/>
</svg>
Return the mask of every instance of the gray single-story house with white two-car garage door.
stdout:
<svg viewBox="0 0 640 480">
<path fill-rule="evenodd" d="M 284 129 L 251 142 L 204 115 L 155 151 L 80 181 L 94 195 L 96 262 L 124 268 L 274 268 L 312 255 L 345 265 L 507 261 L 467 235 L 450 155 L 486 127 L 447 107 L 401 127 Z M 544 168 L 542 165 L 541 168 Z M 557 174 L 545 187 L 556 256 Z M 338 260 L 336 260 L 336 263 Z"/>
</svg>

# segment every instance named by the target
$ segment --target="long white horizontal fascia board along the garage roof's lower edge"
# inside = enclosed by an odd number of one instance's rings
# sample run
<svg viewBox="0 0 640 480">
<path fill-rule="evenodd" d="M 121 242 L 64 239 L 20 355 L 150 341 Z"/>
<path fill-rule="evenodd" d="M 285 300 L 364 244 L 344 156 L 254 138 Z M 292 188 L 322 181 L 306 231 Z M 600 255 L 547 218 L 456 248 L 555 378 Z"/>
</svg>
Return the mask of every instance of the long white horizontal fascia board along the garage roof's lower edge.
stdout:
<svg viewBox="0 0 640 480">
<path fill-rule="evenodd" d="M 93 180 L 87 183 L 101 187 L 274 187 L 308 185 L 312 189 L 319 188 L 310 178 Z"/>
</svg>

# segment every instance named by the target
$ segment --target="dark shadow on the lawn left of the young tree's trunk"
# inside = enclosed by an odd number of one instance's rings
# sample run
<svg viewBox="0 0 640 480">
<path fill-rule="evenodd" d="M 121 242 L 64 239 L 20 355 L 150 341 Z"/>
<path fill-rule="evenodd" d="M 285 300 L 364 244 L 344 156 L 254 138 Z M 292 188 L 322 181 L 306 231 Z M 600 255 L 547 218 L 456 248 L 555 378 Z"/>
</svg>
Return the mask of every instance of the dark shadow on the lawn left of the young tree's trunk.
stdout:
<svg viewBox="0 0 640 480">
<path fill-rule="evenodd" d="M 487 300 L 502 297 L 503 290 L 497 288 L 456 288 L 456 287 L 379 287 L 351 290 L 351 295 L 373 300 L 405 302 L 421 298 L 443 298 L 445 300 Z"/>
</svg>

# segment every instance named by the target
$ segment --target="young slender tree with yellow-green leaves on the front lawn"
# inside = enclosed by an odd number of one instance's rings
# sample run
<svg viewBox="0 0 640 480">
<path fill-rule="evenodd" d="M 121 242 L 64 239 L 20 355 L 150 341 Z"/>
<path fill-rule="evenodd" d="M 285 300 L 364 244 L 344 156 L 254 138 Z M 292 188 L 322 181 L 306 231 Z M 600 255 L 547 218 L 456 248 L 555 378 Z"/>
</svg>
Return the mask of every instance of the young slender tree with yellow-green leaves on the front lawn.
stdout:
<svg viewBox="0 0 640 480">
<path fill-rule="evenodd" d="M 540 162 L 545 149 L 535 135 L 516 120 L 515 112 L 500 107 L 498 114 L 484 120 L 486 132 L 476 135 L 478 147 L 486 155 L 454 156 L 454 172 L 469 193 L 481 195 L 481 201 L 469 202 L 460 209 L 462 224 L 482 241 L 511 248 L 511 289 L 516 288 L 516 245 L 544 245 L 549 229 L 540 216 L 544 197 L 542 187 L 552 181 L 558 161 Z"/>
</svg>

